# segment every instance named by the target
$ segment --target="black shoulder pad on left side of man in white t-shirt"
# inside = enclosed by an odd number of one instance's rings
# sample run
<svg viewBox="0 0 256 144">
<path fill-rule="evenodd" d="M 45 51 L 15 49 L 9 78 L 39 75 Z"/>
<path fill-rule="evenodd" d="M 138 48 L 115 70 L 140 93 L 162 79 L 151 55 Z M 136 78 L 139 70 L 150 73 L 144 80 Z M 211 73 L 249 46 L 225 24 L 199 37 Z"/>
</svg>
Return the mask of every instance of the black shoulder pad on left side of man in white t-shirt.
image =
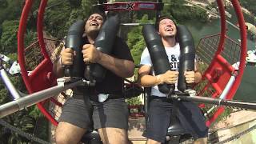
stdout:
<svg viewBox="0 0 256 144">
<path fill-rule="evenodd" d="M 142 34 L 150 52 L 150 58 L 154 67 L 154 74 L 164 74 L 167 70 L 171 70 L 165 47 L 162 44 L 162 39 L 154 29 L 154 26 L 150 24 L 144 25 L 142 27 Z M 174 90 L 174 85 L 161 84 L 158 85 L 158 89 L 162 93 L 168 94 L 170 90 Z"/>
</svg>

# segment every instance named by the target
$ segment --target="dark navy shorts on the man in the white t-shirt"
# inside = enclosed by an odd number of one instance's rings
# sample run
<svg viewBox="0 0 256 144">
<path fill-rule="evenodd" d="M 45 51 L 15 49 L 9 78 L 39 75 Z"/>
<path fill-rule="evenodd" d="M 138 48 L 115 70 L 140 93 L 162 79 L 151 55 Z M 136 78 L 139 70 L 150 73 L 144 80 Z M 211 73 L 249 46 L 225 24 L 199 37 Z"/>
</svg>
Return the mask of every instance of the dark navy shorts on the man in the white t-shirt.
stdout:
<svg viewBox="0 0 256 144">
<path fill-rule="evenodd" d="M 143 136 L 165 142 L 172 107 L 170 99 L 152 99 L 146 119 L 146 133 Z M 193 102 L 178 102 L 178 119 L 186 133 L 191 134 L 194 139 L 207 137 L 208 127 L 206 127 L 205 117 Z"/>
</svg>

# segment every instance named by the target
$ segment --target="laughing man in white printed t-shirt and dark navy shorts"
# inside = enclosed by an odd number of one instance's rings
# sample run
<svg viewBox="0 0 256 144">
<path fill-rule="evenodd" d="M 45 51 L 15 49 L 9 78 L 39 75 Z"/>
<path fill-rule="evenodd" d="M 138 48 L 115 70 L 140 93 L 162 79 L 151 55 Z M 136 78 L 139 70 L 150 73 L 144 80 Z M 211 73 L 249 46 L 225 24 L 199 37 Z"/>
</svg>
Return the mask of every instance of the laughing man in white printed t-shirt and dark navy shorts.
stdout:
<svg viewBox="0 0 256 144">
<path fill-rule="evenodd" d="M 151 87 L 146 133 L 143 134 L 148 138 L 147 144 L 165 142 L 170 125 L 172 100 L 166 98 L 166 94 L 158 90 L 158 85 L 162 83 L 175 84 L 175 90 L 178 90 L 180 46 L 176 41 L 176 25 L 168 16 L 162 16 L 158 18 L 156 27 L 158 34 L 162 37 L 171 70 L 155 75 L 154 70 L 152 71 L 153 66 L 148 49 L 146 48 L 142 52 L 140 62 L 142 66 L 138 70 L 139 80 L 142 86 Z M 197 66 L 194 71 L 185 71 L 184 74 L 186 83 L 198 83 L 202 79 L 202 74 L 197 70 Z M 206 143 L 208 127 L 206 127 L 203 114 L 194 102 L 178 102 L 178 118 L 186 132 L 194 137 L 194 143 Z"/>
</svg>

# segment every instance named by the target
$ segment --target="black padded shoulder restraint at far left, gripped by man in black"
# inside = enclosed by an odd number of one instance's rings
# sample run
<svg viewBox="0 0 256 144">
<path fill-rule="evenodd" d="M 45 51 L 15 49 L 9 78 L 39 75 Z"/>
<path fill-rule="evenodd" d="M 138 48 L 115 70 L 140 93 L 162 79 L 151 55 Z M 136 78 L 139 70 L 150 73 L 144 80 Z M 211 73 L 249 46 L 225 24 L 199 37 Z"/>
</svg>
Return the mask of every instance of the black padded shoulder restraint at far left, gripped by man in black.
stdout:
<svg viewBox="0 0 256 144">
<path fill-rule="evenodd" d="M 82 34 L 84 33 L 85 22 L 78 20 L 70 26 L 66 36 L 65 47 L 75 51 L 72 66 L 66 66 L 65 75 L 70 77 L 83 77 L 84 62 L 82 58 Z"/>
</svg>

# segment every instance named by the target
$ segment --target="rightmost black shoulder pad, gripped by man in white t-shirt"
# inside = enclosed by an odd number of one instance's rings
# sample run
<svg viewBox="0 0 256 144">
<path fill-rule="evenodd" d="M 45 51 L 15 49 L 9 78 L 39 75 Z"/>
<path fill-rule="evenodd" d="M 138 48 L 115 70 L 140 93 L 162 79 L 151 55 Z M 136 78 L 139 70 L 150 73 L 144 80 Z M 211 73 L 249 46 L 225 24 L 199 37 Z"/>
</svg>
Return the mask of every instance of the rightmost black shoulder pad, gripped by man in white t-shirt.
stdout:
<svg viewBox="0 0 256 144">
<path fill-rule="evenodd" d="M 188 88 L 186 84 L 186 79 L 184 72 L 186 70 L 194 71 L 194 58 L 195 58 L 195 49 L 194 49 L 194 40 L 190 30 L 186 26 L 179 25 L 178 30 L 178 41 L 181 47 L 181 54 L 179 59 L 179 68 L 178 68 L 178 90 L 184 92 Z"/>
</svg>

